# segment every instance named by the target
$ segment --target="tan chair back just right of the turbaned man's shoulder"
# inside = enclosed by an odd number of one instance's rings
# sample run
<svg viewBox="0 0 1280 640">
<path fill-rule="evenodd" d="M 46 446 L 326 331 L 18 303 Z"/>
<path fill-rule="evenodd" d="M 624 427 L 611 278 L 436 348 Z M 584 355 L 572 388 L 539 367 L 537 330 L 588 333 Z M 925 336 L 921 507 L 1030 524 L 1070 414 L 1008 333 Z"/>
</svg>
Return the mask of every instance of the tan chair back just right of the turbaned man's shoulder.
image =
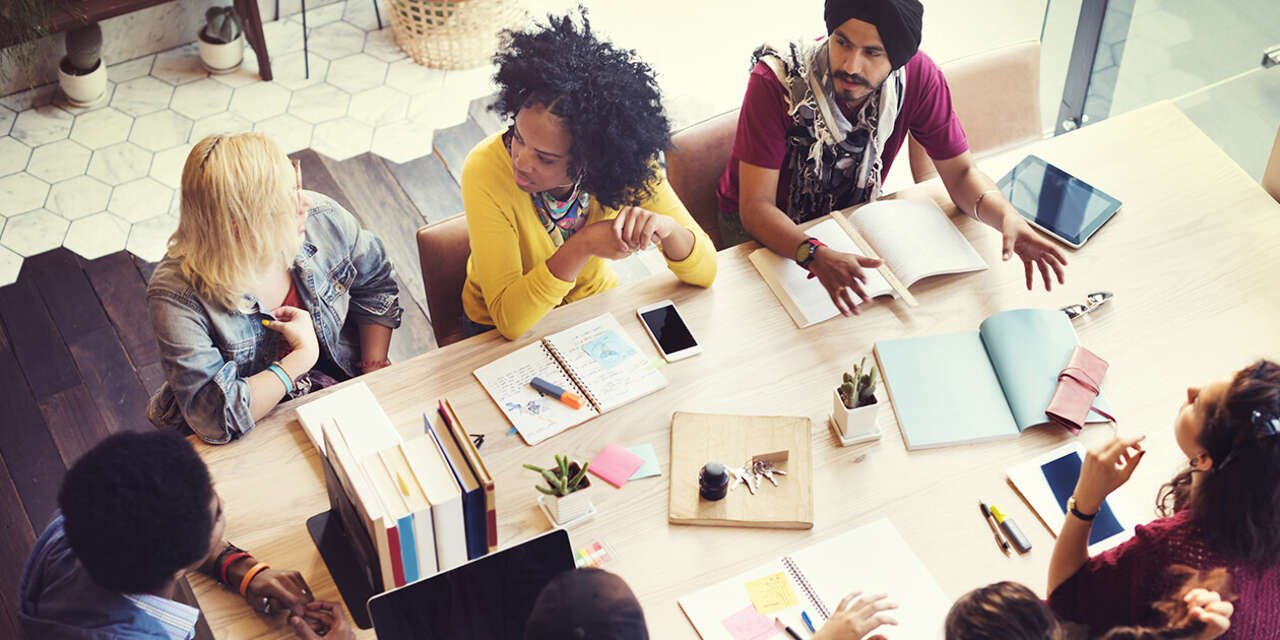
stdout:
<svg viewBox="0 0 1280 640">
<path fill-rule="evenodd" d="M 941 68 L 970 152 L 989 155 L 1043 137 L 1038 41 L 974 54 Z M 908 154 L 915 182 L 937 175 L 924 147 L 910 136 Z"/>
</svg>

